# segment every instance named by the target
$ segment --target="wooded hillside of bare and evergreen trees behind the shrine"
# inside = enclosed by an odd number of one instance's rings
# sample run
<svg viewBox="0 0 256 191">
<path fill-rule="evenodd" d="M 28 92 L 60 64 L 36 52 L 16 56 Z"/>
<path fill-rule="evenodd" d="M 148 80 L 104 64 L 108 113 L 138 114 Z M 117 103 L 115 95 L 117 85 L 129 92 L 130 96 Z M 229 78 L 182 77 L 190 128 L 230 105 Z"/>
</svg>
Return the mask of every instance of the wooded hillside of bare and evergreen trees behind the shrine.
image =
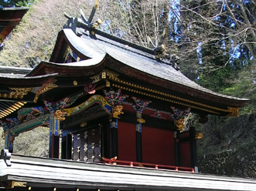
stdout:
<svg viewBox="0 0 256 191">
<path fill-rule="evenodd" d="M 63 12 L 76 17 L 82 9 L 88 17 L 94 1 L 9 1 L 2 5 L 29 5 L 30 9 L 2 45 L 1 65 L 35 67 L 49 60 L 57 33 L 67 22 Z M 100 0 L 94 18 L 103 21 L 101 30 L 122 39 L 152 49 L 164 44 L 166 59 L 207 89 L 251 99 L 240 117 L 209 116 L 203 125 L 191 115 L 186 124 L 204 135 L 198 142 L 201 172 L 256 177 L 254 0 Z"/>
</svg>

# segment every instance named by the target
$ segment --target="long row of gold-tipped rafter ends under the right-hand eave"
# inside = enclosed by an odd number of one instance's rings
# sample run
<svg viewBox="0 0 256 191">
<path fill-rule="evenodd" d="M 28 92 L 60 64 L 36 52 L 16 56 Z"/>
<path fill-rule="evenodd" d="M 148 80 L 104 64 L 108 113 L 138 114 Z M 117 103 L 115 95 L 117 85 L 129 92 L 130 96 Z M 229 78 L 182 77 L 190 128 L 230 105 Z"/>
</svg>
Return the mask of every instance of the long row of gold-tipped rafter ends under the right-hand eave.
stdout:
<svg viewBox="0 0 256 191">
<path fill-rule="evenodd" d="M 181 106 L 191 107 L 191 108 L 194 108 L 194 109 L 199 109 L 199 110 L 202 110 L 202 111 L 205 111 L 205 112 L 210 112 L 210 113 L 213 113 L 213 114 L 220 115 L 220 112 L 214 112 L 213 110 L 210 110 L 210 109 L 203 109 L 203 108 L 200 108 L 200 107 L 197 107 L 197 106 L 192 106 L 192 105 L 189 105 L 189 104 L 186 104 L 186 103 L 183 103 L 183 102 L 177 102 L 177 101 L 174 101 L 172 99 L 166 99 L 166 98 L 160 97 L 158 95 L 152 95 L 152 94 L 149 94 L 149 93 L 140 92 L 140 91 L 135 90 L 135 89 L 129 89 L 129 88 L 121 86 L 121 85 L 113 84 L 113 86 L 118 88 L 118 89 L 128 90 L 129 92 L 135 92 L 135 93 L 146 95 L 146 96 L 149 96 L 149 97 L 152 97 L 152 98 L 155 98 L 155 99 L 161 99 L 161 100 L 166 101 L 166 102 L 172 102 L 172 103 L 179 104 Z"/>
</svg>

